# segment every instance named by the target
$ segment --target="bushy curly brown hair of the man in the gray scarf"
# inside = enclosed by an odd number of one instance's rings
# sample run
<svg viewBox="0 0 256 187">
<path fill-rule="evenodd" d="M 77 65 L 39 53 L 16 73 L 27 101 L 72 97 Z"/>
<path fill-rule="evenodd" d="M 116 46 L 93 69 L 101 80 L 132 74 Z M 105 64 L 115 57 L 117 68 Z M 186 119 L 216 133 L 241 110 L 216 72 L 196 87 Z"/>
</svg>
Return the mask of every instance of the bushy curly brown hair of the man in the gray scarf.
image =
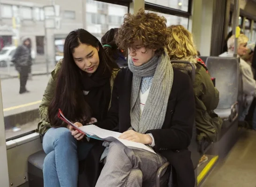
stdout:
<svg viewBox="0 0 256 187">
<path fill-rule="evenodd" d="M 136 14 L 125 14 L 124 22 L 115 35 L 119 49 L 126 50 L 138 41 L 146 49 L 157 49 L 161 54 L 168 44 L 166 18 L 145 12 L 141 8 Z M 146 52 L 146 51 L 145 51 Z"/>
</svg>

